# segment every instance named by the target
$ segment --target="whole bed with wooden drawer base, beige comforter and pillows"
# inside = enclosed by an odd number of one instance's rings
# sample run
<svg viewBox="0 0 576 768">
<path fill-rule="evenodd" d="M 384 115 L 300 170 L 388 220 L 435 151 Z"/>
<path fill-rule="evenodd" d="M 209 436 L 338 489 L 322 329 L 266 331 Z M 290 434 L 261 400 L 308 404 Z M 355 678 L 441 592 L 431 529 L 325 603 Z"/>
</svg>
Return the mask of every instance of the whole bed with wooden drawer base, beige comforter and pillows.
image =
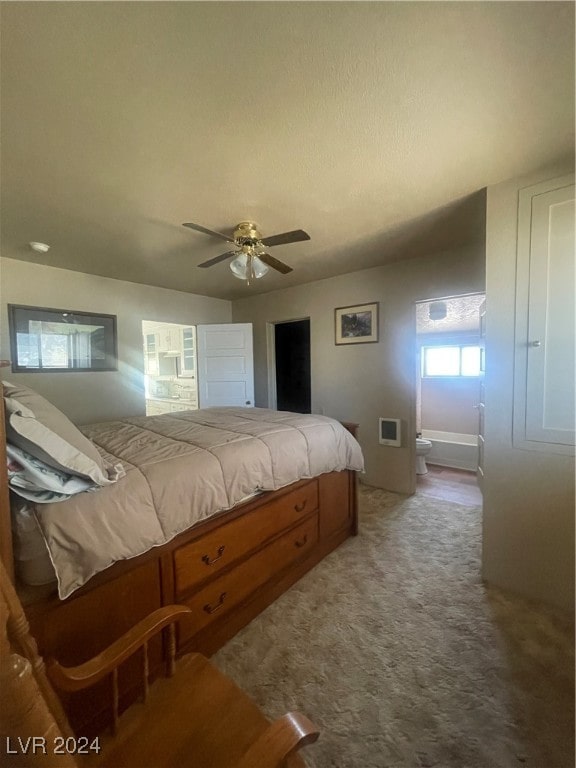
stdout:
<svg viewBox="0 0 576 768">
<path fill-rule="evenodd" d="M 18 589 L 41 653 L 64 664 L 171 603 L 192 609 L 178 651 L 211 655 L 357 532 L 363 461 L 354 425 L 224 408 L 89 425 L 79 437 L 32 390 L 7 385 L 4 402 L 9 450 L 14 442 L 37 448 L 44 429 L 60 432 L 66 450 L 58 443 L 55 463 L 90 485 L 61 501 L 27 500 L 57 579 L 17 580 Z M 42 447 L 44 459 L 57 452 L 53 441 Z M 9 516 L 4 488 L 2 558 L 14 572 Z M 150 649 L 152 673 L 163 656 L 160 643 Z M 120 680 L 126 702 L 136 676 L 128 666 Z M 77 730 L 96 732 L 107 721 L 102 688 L 90 709 L 76 695 L 68 702 Z"/>
</svg>

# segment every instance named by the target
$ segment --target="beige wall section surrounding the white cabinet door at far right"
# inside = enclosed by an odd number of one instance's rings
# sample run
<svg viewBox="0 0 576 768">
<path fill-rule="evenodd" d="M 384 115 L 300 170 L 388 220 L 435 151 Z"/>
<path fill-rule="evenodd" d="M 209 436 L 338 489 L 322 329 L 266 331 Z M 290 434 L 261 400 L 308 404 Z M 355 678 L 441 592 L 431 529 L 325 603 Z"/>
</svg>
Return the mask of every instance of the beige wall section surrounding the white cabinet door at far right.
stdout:
<svg viewBox="0 0 576 768">
<path fill-rule="evenodd" d="M 483 575 L 574 610 L 574 458 L 512 445 L 518 190 L 572 162 L 488 188 Z"/>
</svg>

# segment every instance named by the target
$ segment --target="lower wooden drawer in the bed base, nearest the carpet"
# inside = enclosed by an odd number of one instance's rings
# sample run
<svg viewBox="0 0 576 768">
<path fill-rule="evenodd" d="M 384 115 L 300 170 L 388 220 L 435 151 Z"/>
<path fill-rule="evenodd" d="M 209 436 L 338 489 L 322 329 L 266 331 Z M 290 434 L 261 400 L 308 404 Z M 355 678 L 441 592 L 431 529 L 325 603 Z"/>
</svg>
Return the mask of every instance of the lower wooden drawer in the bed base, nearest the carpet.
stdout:
<svg viewBox="0 0 576 768">
<path fill-rule="evenodd" d="M 223 573 L 182 602 L 192 609 L 190 621 L 179 627 L 182 645 L 196 632 L 236 608 L 273 576 L 304 557 L 318 539 L 318 516 L 313 514 L 236 568 Z"/>
</svg>

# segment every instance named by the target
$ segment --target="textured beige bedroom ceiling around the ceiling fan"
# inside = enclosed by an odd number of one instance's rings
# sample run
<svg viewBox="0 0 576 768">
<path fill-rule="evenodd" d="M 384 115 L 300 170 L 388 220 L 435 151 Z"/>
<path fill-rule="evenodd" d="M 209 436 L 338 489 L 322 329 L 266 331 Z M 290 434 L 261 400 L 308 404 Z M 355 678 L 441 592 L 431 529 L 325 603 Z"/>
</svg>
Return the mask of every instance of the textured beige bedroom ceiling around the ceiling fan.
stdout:
<svg viewBox="0 0 576 768">
<path fill-rule="evenodd" d="M 570 2 L 2 2 L 2 254 L 234 298 L 484 233 L 574 151 Z M 290 264 L 200 262 L 242 220 Z M 49 243 L 47 254 L 27 247 Z"/>
</svg>

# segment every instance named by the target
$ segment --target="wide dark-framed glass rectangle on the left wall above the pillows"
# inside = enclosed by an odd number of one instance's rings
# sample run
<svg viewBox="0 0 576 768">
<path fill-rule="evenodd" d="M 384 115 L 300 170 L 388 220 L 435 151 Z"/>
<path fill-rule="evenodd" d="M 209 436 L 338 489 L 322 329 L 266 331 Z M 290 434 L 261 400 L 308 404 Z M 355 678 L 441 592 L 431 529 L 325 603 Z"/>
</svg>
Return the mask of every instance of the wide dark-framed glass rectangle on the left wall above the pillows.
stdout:
<svg viewBox="0 0 576 768">
<path fill-rule="evenodd" d="M 8 305 L 12 370 L 116 370 L 116 317 Z"/>
</svg>

